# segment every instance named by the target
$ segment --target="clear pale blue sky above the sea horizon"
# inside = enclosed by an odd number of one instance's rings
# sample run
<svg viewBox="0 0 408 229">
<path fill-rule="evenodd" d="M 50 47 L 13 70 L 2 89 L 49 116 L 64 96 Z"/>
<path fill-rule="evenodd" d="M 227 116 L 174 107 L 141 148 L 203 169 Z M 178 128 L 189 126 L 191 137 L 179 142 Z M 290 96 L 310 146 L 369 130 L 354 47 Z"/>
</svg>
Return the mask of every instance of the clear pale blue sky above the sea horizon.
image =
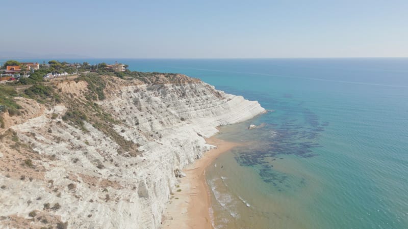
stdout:
<svg viewBox="0 0 408 229">
<path fill-rule="evenodd" d="M 408 56 L 407 0 L 20 0 L 0 9 L 0 56 Z"/>
</svg>

